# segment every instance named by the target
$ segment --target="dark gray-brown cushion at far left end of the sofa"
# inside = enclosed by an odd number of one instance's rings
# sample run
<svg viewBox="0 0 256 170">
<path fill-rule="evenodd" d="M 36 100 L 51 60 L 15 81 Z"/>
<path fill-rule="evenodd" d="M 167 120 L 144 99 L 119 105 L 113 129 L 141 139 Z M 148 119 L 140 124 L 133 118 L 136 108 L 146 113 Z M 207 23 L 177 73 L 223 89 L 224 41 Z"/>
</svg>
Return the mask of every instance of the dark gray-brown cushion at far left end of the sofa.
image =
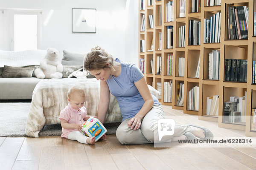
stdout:
<svg viewBox="0 0 256 170">
<path fill-rule="evenodd" d="M 11 67 L 4 65 L 3 73 L 1 77 L 3 78 L 17 78 L 17 77 L 32 77 L 33 68 L 21 68 L 21 67 Z"/>
</svg>

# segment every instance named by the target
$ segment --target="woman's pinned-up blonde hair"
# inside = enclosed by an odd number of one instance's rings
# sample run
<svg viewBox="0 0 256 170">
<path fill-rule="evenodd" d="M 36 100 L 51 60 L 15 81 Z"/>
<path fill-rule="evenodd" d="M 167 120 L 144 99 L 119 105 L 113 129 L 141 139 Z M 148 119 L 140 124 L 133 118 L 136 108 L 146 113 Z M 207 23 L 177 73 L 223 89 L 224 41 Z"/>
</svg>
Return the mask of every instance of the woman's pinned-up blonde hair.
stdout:
<svg viewBox="0 0 256 170">
<path fill-rule="evenodd" d="M 114 65 L 113 61 L 114 59 L 111 54 L 99 46 L 96 46 L 84 57 L 84 70 L 91 71 L 105 68 L 111 69 Z"/>
</svg>

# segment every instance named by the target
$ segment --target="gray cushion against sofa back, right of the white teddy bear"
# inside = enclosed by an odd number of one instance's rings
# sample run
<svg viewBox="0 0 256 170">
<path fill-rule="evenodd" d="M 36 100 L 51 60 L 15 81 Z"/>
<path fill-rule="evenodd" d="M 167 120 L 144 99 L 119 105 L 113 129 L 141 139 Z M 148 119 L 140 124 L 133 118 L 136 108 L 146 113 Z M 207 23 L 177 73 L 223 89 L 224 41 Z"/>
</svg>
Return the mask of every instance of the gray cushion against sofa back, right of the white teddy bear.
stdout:
<svg viewBox="0 0 256 170">
<path fill-rule="evenodd" d="M 71 53 L 63 50 L 62 65 L 83 65 L 85 54 Z"/>
</svg>

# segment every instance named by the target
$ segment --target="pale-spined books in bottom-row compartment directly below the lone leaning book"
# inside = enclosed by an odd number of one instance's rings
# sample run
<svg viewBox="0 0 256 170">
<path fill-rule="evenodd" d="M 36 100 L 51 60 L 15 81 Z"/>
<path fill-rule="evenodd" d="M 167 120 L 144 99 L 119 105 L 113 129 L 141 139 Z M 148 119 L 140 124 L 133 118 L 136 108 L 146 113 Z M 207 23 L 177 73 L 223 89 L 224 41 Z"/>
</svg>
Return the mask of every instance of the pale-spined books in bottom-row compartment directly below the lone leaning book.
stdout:
<svg viewBox="0 0 256 170">
<path fill-rule="evenodd" d="M 188 109 L 198 111 L 199 109 L 199 87 L 195 86 L 189 91 Z"/>
</svg>

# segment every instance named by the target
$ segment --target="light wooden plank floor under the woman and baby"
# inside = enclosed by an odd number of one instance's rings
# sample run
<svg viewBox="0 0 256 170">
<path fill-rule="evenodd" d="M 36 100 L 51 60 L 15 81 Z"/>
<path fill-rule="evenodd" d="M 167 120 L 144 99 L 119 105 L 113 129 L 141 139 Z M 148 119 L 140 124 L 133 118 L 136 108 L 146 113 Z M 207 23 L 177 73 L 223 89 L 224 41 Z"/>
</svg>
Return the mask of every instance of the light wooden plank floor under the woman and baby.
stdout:
<svg viewBox="0 0 256 170">
<path fill-rule="evenodd" d="M 163 106 L 176 124 L 197 124 L 214 136 L 243 137 L 244 131 L 184 116 Z M 255 147 L 170 147 L 122 145 L 115 135 L 93 145 L 51 137 L 0 137 L 0 170 L 256 170 Z"/>
</svg>

